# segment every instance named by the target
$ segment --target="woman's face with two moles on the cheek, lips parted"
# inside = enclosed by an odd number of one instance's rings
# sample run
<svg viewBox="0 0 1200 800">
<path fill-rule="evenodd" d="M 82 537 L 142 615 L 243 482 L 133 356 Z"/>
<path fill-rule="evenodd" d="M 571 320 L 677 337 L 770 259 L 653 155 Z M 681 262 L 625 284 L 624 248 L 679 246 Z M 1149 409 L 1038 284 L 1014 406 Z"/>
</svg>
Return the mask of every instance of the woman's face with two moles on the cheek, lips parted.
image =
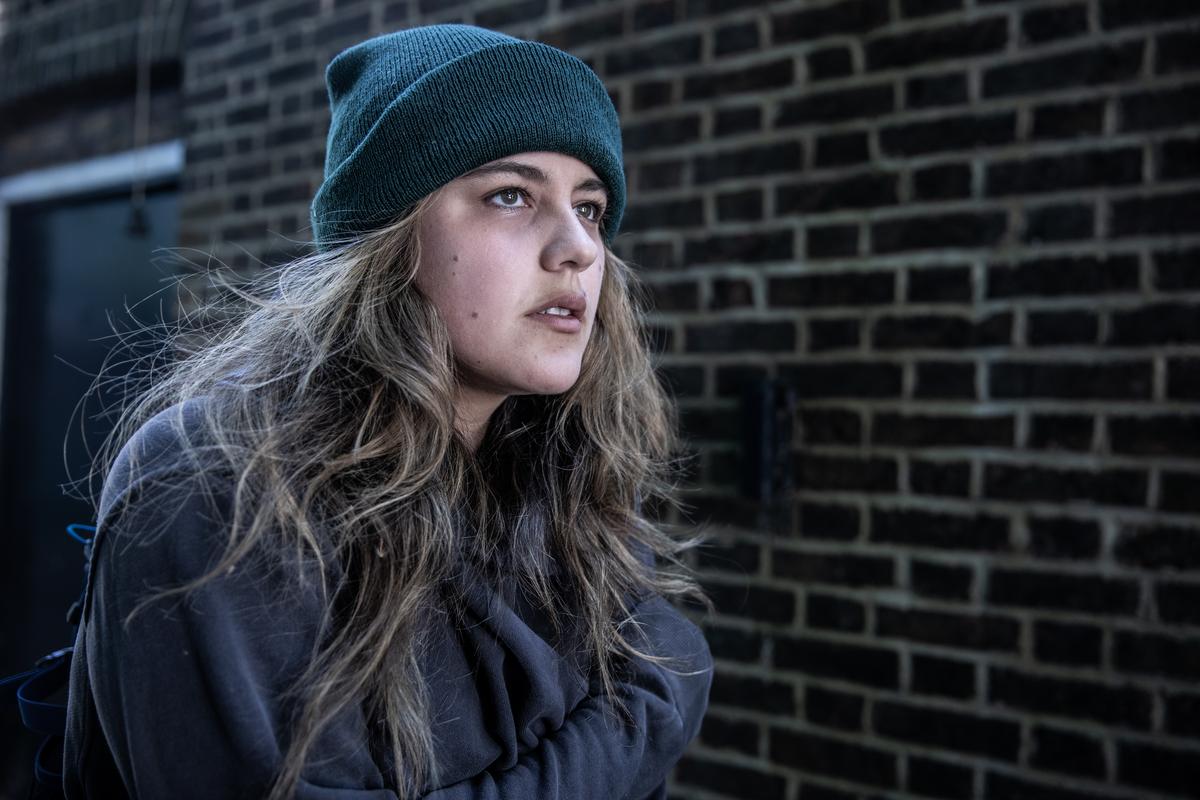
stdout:
<svg viewBox="0 0 1200 800">
<path fill-rule="evenodd" d="M 600 301 L 606 203 L 592 168 L 557 152 L 493 161 L 434 198 L 416 287 L 440 312 L 460 391 L 476 407 L 575 384 Z"/>
</svg>

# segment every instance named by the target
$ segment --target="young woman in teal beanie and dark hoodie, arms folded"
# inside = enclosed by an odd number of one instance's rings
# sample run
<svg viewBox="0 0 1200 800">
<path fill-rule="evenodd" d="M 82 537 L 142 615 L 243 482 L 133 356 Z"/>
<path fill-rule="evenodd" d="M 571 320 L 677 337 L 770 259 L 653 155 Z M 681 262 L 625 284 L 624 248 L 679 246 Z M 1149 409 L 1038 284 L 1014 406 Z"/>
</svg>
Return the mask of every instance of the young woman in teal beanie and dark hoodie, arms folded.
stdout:
<svg viewBox="0 0 1200 800">
<path fill-rule="evenodd" d="M 316 252 L 114 434 L 66 794 L 662 798 L 712 661 L 608 95 L 464 25 L 326 79 Z"/>
</svg>

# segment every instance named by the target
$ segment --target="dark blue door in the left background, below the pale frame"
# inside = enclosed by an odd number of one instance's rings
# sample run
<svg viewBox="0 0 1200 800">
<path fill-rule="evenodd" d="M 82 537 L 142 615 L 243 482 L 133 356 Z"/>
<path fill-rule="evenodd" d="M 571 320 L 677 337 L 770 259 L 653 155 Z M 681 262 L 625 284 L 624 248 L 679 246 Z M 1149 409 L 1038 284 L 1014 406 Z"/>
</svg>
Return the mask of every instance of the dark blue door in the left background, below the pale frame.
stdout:
<svg viewBox="0 0 1200 800">
<path fill-rule="evenodd" d="M 26 669 L 73 637 L 66 610 L 82 588 L 83 551 L 65 529 L 95 521 L 91 505 L 67 497 L 64 486 L 86 474 L 88 449 L 108 433 L 107 421 L 89 419 L 80 432 L 77 404 L 114 345 L 113 323 L 130 330 L 175 314 L 175 290 L 152 263 L 155 248 L 176 242 L 175 186 L 146 192 L 140 225 L 131 227 L 131 215 L 127 188 L 10 207 L 0 674 Z M 84 415 L 96 410 L 90 403 Z M 11 711 L 2 715 L 5 739 Z"/>
</svg>

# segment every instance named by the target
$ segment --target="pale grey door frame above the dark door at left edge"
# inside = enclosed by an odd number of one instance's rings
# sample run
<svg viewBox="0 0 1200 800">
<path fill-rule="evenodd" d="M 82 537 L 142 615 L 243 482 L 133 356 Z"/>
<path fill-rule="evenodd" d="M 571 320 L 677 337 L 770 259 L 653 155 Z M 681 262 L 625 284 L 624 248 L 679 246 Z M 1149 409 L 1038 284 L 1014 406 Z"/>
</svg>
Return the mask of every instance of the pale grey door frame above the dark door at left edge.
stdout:
<svg viewBox="0 0 1200 800">
<path fill-rule="evenodd" d="M 176 178 L 184 170 L 184 140 L 173 139 L 148 148 L 42 169 L 31 169 L 0 179 L 0 397 L 4 397 L 5 330 L 8 309 L 8 221 L 10 209 L 86 194 L 134 181 L 148 184 Z"/>
</svg>

